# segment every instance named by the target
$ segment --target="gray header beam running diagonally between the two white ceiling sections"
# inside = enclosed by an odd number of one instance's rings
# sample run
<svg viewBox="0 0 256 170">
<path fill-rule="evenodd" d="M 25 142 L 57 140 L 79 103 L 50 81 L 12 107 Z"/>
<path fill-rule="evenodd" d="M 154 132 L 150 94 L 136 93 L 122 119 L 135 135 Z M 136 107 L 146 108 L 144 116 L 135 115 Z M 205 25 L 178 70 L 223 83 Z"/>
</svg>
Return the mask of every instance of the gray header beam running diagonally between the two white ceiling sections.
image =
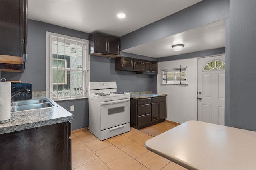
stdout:
<svg viewBox="0 0 256 170">
<path fill-rule="evenodd" d="M 203 0 L 121 38 L 121 50 L 223 20 L 229 16 L 229 0 Z"/>
</svg>

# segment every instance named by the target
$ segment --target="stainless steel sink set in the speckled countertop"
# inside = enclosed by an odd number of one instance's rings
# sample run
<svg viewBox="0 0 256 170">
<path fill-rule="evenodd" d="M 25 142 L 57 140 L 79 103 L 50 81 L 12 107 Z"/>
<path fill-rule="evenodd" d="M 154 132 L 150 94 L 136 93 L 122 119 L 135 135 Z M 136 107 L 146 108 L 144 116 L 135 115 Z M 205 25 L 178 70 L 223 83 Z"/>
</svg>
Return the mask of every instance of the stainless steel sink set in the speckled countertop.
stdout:
<svg viewBox="0 0 256 170">
<path fill-rule="evenodd" d="M 51 107 L 56 107 L 56 106 L 46 98 L 11 102 L 11 112 L 34 110 L 34 109 L 46 109 Z"/>
</svg>

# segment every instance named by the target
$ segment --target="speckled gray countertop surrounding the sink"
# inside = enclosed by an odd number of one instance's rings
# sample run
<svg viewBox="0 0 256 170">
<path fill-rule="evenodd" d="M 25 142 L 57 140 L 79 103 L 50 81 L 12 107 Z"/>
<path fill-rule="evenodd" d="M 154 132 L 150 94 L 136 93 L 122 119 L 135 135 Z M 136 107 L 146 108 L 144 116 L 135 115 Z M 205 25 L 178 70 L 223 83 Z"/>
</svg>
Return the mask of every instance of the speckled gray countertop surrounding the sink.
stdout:
<svg viewBox="0 0 256 170">
<path fill-rule="evenodd" d="M 15 118 L 15 120 L 0 124 L 0 134 L 62 123 L 74 119 L 74 115 L 56 102 L 50 101 L 57 107 L 11 112 L 11 118 Z"/>
</svg>

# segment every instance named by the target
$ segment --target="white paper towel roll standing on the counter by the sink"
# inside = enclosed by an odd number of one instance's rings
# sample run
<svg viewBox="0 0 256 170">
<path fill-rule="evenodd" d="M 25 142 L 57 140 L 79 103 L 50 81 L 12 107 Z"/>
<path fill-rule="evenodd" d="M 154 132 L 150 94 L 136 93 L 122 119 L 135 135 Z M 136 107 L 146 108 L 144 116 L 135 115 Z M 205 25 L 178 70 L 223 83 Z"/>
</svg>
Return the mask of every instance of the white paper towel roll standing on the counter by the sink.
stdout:
<svg viewBox="0 0 256 170">
<path fill-rule="evenodd" d="M 11 119 L 11 83 L 0 82 L 0 121 Z"/>
</svg>

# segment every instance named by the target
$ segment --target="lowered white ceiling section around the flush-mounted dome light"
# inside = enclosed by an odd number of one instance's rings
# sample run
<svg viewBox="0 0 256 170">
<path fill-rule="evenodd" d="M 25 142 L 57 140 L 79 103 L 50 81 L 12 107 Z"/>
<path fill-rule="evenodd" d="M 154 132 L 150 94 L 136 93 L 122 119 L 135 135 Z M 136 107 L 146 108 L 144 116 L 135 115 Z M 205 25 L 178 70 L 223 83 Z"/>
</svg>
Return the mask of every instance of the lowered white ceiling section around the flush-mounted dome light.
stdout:
<svg viewBox="0 0 256 170">
<path fill-rule="evenodd" d="M 178 33 L 163 39 L 138 45 L 123 52 L 160 58 L 225 47 L 225 20 Z M 181 51 L 174 51 L 172 45 L 184 44 Z"/>
</svg>

